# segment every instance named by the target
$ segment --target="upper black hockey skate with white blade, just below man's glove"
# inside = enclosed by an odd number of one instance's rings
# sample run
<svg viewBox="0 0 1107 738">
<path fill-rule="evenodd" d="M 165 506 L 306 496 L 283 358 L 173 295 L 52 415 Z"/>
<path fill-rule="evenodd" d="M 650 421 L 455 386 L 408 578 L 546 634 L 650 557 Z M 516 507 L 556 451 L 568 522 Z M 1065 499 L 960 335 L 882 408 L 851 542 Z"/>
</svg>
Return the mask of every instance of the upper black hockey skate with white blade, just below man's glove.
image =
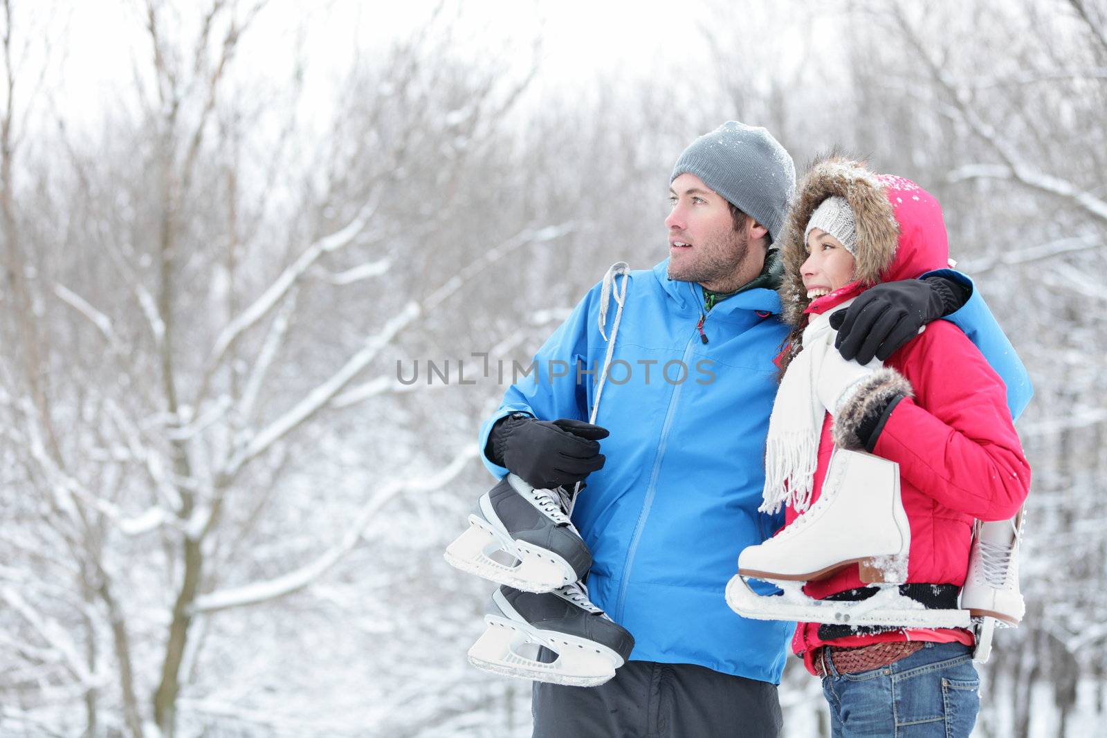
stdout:
<svg viewBox="0 0 1107 738">
<path fill-rule="evenodd" d="M 480 496 L 469 529 L 446 549 L 462 571 L 526 592 L 549 592 L 584 576 L 592 555 L 569 521 L 568 496 L 509 474 Z"/>
</svg>

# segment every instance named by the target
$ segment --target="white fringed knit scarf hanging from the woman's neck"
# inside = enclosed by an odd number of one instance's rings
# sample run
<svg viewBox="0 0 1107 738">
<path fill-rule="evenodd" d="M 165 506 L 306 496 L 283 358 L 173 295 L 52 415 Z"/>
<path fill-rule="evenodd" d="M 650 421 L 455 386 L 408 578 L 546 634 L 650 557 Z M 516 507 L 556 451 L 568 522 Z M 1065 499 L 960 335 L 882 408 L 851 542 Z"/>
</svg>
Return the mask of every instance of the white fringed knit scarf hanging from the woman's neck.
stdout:
<svg viewBox="0 0 1107 738">
<path fill-rule="evenodd" d="M 835 305 L 846 308 L 852 300 Z M 818 466 L 819 436 L 826 408 L 815 393 L 823 360 L 834 347 L 837 331 L 830 328 L 830 313 L 811 314 L 804 329 L 803 351 L 796 354 L 784 373 L 768 419 L 765 445 L 764 501 L 761 512 L 776 513 L 782 505 L 803 512 L 811 503 L 815 469 Z"/>
</svg>

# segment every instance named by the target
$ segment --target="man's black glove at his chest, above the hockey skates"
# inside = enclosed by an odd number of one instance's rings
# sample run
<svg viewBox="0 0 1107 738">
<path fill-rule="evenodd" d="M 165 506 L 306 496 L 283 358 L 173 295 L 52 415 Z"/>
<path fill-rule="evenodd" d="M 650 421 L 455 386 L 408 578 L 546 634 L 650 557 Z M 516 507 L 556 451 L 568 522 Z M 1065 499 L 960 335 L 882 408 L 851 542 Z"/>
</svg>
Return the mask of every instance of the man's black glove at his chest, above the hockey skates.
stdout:
<svg viewBox="0 0 1107 738">
<path fill-rule="evenodd" d="M 607 428 L 580 420 L 508 416 L 493 426 L 485 455 L 538 489 L 572 485 L 603 468 Z"/>
</svg>

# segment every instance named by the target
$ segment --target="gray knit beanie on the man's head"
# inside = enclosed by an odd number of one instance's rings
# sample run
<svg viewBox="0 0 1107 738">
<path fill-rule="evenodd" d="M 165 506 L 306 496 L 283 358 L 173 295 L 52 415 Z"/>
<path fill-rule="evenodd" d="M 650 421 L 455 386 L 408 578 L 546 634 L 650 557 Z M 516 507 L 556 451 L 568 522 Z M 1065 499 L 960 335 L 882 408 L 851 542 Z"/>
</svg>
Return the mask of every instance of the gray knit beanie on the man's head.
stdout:
<svg viewBox="0 0 1107 738">
<path fill-rule="evenodd" d="M 773 240 L 780 235 L 796 191 L 796 166 L 765 128 L 727 121 L 684 149 L 669 181 L 682 174 L 694 174 L 753 216 L 768 228 Z"/>
</svg>

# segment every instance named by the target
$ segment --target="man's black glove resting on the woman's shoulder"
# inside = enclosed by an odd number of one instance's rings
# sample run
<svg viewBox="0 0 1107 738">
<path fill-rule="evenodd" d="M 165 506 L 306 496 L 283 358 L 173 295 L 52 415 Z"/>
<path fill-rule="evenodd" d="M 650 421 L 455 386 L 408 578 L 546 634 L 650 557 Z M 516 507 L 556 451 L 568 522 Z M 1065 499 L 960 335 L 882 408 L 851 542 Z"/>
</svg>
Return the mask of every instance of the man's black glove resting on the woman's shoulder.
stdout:
<svg viewBox="0 0 1107 738">
<path fill-rule="evenodd" d="M 937 276 L 877 284 L 830 315 L 830 328 L 838 331 L 834 345 L 846 361 L 868 364 L 873 356 L 888 361 L 923 325 L 960 310 L 968 292 Z"/>
</svg>

